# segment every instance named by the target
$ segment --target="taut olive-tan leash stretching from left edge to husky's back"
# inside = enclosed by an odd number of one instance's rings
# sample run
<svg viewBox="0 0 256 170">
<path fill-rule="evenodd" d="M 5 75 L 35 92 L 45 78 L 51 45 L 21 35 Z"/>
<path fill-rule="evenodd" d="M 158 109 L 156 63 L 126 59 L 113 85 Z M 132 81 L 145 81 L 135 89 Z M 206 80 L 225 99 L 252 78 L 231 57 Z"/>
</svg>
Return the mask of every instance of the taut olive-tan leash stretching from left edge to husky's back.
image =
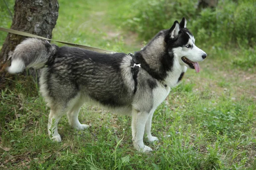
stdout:
<svg viewBox="0 0 256 170">
<path fill-rule="evenodd" d="M 79 48 L 84 48 L 86 50 L 96 51 L 96 52 L 99 52 L 99 53 L 109 53 L 109 54 L 116 53 L 115 51 L 108 51 L 108 50 L 104 50 L 104 49 L 101 49 L 101 48 L 89 47 L 89 46 L 81 45 L 81 44 L 75 44 L 75 43 L 64 42 L 64 41 L 59 41 L 59 40 L 52 40 L 52 39 L 49 39 L 49 38 L 40 37 L 38 35 L 29 34 L 29 33 L 26 33 L 26 32 L 17 31 L 17 30 L 8 29 L 8 28 L 3 28 L 3 27 L 0 27 L 0 31 L 4 31 L 4 32 L 11 33 L 11 34 L 16 34 L 16 35 L 21 35 L 21 36 L 25 36 L 25 37 L 41 38 L 41 39 L 44 39 L 44 40 L 60 42 L 62 44 L 71 45 L 71 46 L 79 47 Z"/>
</svg>

